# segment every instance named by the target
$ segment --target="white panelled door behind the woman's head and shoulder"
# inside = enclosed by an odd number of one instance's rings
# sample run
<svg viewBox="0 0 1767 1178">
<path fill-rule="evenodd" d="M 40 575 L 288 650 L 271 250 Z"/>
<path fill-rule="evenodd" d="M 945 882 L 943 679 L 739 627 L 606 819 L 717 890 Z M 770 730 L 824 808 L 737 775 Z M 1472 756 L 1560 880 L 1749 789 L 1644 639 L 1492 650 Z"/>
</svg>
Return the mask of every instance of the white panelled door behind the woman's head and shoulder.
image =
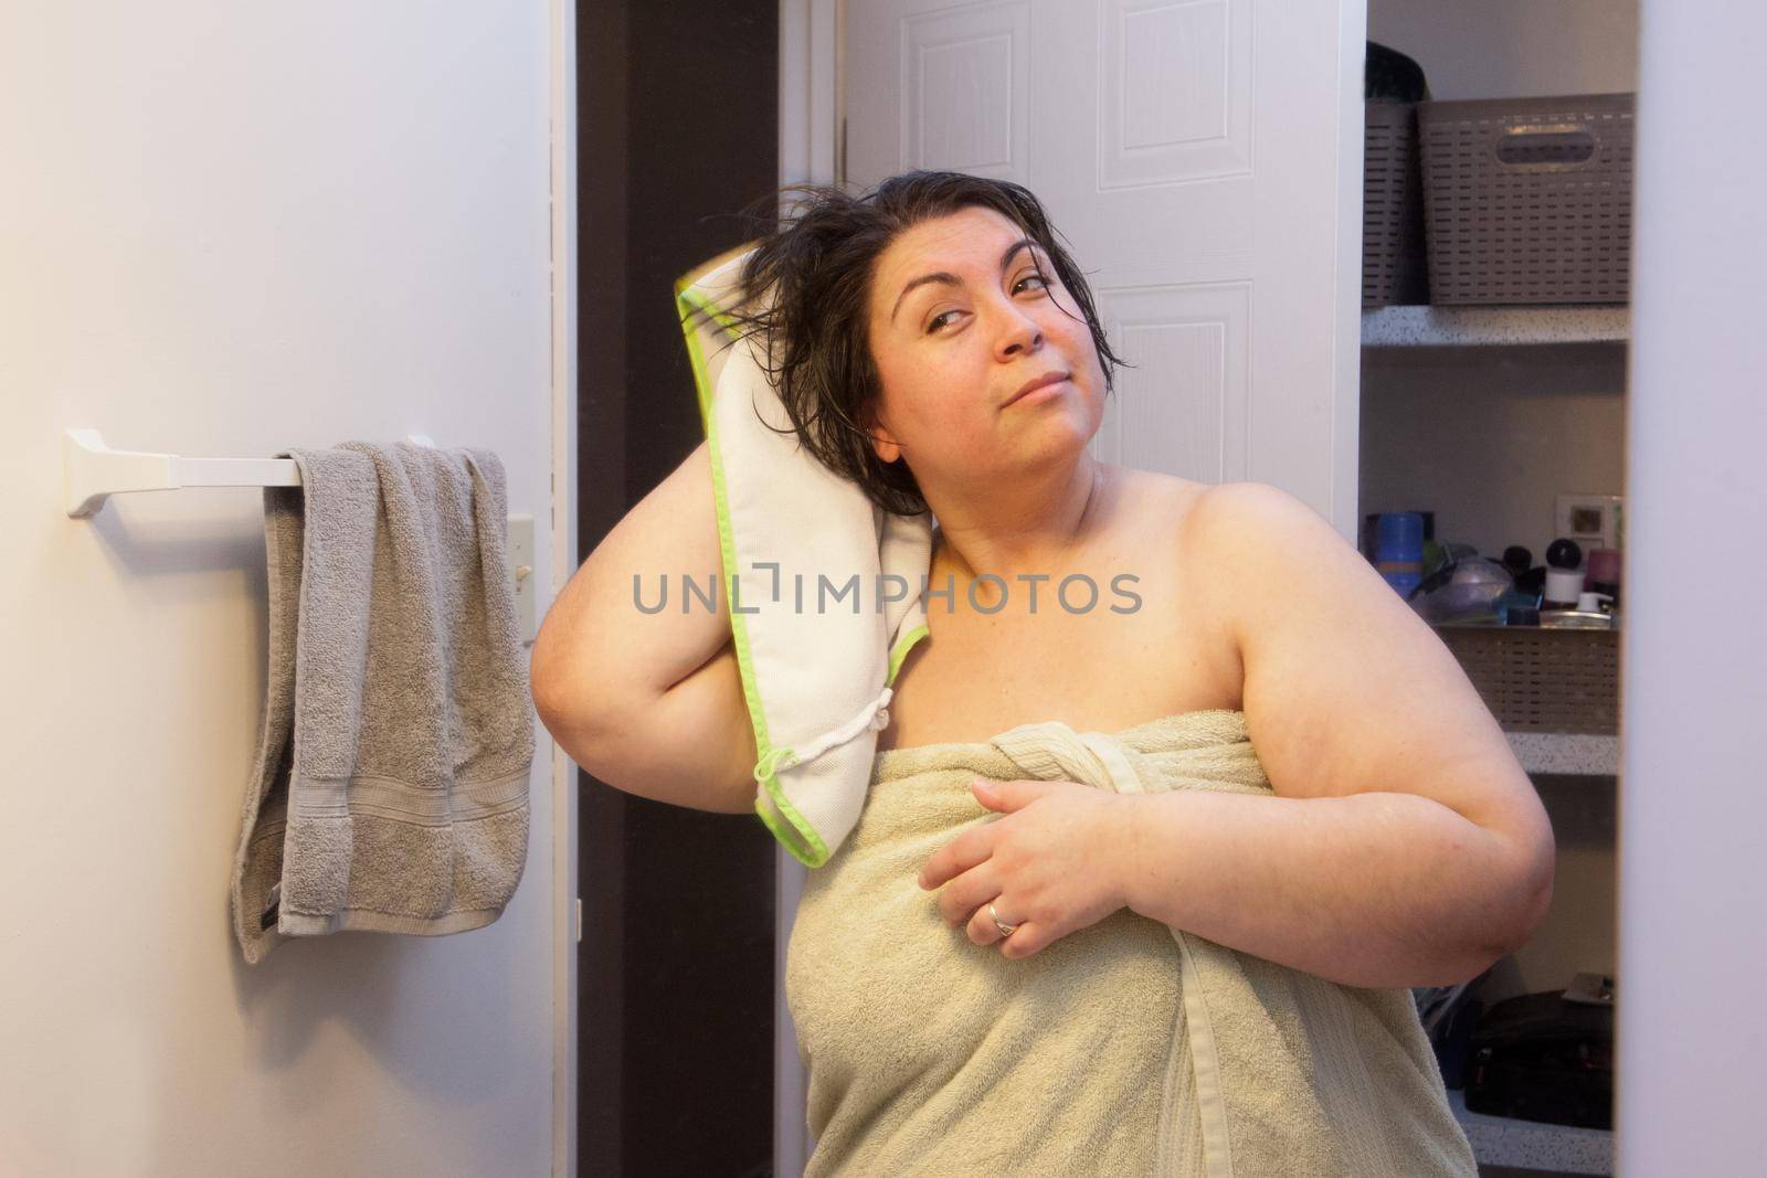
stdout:
<svg viewBox="0 0 1767 1178">
<path fill-rule="evenodd" d="M 1366 0 L 848 0 L 846 178 L 1016 180 L 1134 364 L 1092 447 L 1355 537 Z"/>
</svg>

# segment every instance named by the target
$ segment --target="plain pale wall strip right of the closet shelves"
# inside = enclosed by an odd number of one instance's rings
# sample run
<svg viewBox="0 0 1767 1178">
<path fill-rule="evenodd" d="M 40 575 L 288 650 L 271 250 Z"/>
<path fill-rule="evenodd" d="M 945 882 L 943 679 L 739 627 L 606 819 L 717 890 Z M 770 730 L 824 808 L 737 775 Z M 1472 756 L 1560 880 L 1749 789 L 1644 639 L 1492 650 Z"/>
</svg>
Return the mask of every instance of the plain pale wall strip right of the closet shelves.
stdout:
<svg viewBox="0 0 1767 1178">
<path fill-rule="evenodd" d="M 1767 581 L 1760 283 L 1767 157 L 1739 152 L 1767 14 L 1647 0 L 1633 256 L 1633 507 L 1622 646 L 1622 1173 L 1762 1169 Z M 1702 574 L 1710 581 L 1702 581 Z"/>
</svg>

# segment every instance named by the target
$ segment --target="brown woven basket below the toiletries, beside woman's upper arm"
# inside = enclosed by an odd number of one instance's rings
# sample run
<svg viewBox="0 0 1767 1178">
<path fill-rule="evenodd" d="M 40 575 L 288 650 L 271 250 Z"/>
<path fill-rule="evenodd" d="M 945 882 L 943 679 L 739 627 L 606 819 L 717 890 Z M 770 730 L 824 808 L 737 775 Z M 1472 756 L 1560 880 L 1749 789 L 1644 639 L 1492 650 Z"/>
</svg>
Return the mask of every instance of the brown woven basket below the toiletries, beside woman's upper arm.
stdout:
<svg viewBox="0 0 1767 1178">
<path fill-rule="evenodd" d="M 1440 625 L 1437 634 L 1505 731 L 1619 731 L 1619 631 Z"/>
</svg>

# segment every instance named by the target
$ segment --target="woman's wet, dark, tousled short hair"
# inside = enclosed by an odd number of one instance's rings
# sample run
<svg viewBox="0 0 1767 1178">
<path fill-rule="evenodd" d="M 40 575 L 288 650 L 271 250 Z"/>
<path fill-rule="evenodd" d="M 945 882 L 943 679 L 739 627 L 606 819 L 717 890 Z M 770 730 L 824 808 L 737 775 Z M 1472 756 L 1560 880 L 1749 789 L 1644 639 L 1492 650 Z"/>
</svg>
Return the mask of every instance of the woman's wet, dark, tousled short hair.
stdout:
<svg viewBox="0 0 1767 1178">
<path fill-rule="evenodd" d="M 914 472 L 901 457 L 884 463 L 861 426 L 882 390 L 869 341 L 873 272 L 899 233 L 970 207 L 1002 214 L 1050 258 L 1092 330 L 1108 396 L 1122 360 L 1104 337 L 1085 276 L 1023 185 L 959 171 L 908 171 L 862 196 L 830 185 L 786 185 L 747 212 L 751 223 L 767 223 L 772 231 L 742 267 L 732 320 L 742 337 L 760 334 L 755 353 L 804 449 L 901 516 L 926 510 Z M 1043 263 L 1034 265 L 1048 283 Z"/>
</svg>

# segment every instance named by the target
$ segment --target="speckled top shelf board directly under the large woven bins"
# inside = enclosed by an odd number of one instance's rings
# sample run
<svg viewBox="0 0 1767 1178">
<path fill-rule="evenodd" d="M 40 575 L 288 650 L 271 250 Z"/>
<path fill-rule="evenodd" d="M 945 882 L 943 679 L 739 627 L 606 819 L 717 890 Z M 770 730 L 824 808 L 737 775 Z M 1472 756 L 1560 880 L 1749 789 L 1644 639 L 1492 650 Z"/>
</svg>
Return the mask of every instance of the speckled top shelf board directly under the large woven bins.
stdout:
<svg viewBox="0 0 1767 1178">
<path fill-rule="evenodd" d="M 1369 307 L 1362 311 L 1364 348 L 1467 348 L 1504 344 L 1624 344 L 1631 307 Z"/>
</svg>

